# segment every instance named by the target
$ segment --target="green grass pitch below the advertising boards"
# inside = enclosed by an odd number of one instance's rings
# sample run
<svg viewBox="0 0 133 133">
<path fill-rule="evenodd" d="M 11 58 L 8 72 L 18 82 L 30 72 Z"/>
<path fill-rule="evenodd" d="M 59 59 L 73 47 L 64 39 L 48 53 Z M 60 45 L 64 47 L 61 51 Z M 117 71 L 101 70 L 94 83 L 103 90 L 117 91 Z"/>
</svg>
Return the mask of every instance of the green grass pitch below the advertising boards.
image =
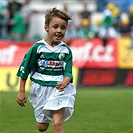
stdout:
<svg viewBox="0 0 133 133">
<path fill-rule="evenodd" d="M 132 94 L 131 88 L 77 89 L 65 133 L 133 133 Z M 0 92 L 0 133 L 39 133 L 30 103 L 22 108 L 16 96 L 17 92 Z M 53 133 L 51 124 L 45 133 Z"/>
</svg>

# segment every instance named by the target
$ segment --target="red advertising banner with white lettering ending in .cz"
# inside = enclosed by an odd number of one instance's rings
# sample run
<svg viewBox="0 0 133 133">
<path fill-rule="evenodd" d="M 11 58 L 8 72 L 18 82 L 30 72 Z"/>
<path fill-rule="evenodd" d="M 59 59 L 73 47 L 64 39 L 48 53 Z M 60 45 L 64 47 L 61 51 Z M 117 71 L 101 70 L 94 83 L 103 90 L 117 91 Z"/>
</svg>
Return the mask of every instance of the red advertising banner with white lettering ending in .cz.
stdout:
<svg viewBox="0 0 133 133">
<path fill-rule="evenodd" d="M 99 38 L 74 39 L 71 42 L 74 66 L 78 68 L 116 68 L 117 40 L 110 39 L 106 46 Z"/>
</svg>

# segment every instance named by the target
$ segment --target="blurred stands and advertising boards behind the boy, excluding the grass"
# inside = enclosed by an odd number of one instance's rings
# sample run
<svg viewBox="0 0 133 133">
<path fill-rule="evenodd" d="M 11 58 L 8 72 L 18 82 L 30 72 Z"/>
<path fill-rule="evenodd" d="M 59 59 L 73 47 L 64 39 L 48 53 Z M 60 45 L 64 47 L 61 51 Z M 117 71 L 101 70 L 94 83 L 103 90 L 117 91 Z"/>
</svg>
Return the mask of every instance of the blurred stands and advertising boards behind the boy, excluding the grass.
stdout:
<svg viewBox="0 0 133 133">
<path fill-rule="evenodd" d="M 64 42 L 73 52 L 76 86 L 133 86 L 133 0 L 1 0 L 1 89 L 17 88 L 17 68 L 47 35 L 44 15 L 53 7 L 72 16 Z"/>
</svg>

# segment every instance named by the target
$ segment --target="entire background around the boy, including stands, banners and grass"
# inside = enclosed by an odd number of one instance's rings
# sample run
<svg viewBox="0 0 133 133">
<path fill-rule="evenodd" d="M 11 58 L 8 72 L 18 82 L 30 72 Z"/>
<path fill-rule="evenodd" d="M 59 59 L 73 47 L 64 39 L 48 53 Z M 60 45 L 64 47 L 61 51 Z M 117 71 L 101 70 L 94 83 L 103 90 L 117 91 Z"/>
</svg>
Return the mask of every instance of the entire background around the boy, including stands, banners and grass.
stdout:
<svg viewBox="0 0 133 133">
<path fill-rule="evenodd" d="M 30 103 L 15 102 L 16 73 L 46 37 L 44 15 L 53 7 L 72 16 L 63 41 L 72 49 L 77 94 L 65 132 L 133 133 L 133 0 L 0 0 L 0 132 L 38 133 Z M 28 94 L 30 86 L 28 79 Z"/>
</svg>

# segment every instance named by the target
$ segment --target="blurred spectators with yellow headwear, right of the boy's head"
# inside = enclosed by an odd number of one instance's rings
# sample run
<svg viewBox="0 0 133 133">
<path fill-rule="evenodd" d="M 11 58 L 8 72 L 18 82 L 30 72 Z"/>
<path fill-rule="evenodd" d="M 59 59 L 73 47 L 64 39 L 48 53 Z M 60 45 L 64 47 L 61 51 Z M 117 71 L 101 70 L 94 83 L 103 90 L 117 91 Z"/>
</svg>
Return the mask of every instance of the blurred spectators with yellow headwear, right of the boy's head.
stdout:
<svg viewBox="0 0 133 133">
<path fill-rule="evenodd" d="M 84 4 L 84 10 L 78 13 L 79 21 L 76 19 L 73 24 L 69 24 L 66 40 L 102 38 L 103 44 L 106 45 L 109 38 L 133 38 L 133 5 L 123 13 L 113 3 L 108 3 L 106 9 L 101 12 L 102 17 L 96 17 L 92 21 L 93 14 L 87 10 L 87 4 Z"/>
</svg>

